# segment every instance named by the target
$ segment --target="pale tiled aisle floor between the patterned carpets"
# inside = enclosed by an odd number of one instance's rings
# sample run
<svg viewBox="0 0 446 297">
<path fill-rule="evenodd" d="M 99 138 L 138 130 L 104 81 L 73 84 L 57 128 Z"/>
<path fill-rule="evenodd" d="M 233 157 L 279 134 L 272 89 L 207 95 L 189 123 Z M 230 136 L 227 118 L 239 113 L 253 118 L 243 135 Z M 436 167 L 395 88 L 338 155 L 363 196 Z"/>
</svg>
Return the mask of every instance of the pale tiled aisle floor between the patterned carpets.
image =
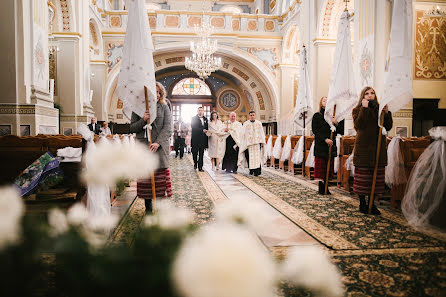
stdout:
<svg viewBox="0 0 446 297">
<path fill-rule="evenodd" d="M 209 173 L 228 199 L 248 198 L 260 201 L 265 205 L 265 208 L 271 214 L 271 224 L 258 235 L 266 246 L 319 245 L 318 241 L 236 180 L 232 174 L 227 174 L 223 170 L 213 171 L 208 158 L 205 158 L 204 169 Z M 245 169 L 239 169 L 238 172 L 238 174 L 248 173 Z"/>
</svg>

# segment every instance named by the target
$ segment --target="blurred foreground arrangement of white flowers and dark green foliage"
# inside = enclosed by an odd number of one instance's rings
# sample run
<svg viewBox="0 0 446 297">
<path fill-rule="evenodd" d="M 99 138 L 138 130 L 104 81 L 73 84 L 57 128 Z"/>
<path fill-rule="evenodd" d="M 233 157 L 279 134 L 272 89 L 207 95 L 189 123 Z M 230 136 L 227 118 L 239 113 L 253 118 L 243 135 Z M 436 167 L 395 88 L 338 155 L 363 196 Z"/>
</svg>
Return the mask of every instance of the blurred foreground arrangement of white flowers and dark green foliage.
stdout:
<svg viewBox="0 0 446 297">
<path fill-rule="evenodd" d="M 124 164 L 134 168 L 141 159 L 125 155 L 115 164 L 124 172 Z M 283 282 L 320 296 L 344 293 L 338 269 L 321 249 L 295 247 L 281 262 L 272 257 L 256 236 L 270 223 L 258 202 L 218 205 L 215 221 L 203 226 L 187 209 L 158 202 L 131 245 L 109 241 L 116 217 L 91 218 L 81 204 L 45 218 L 23 214 L 15 190 L 0 189 L 0 296 L 272 297 Z"/>
</svg>

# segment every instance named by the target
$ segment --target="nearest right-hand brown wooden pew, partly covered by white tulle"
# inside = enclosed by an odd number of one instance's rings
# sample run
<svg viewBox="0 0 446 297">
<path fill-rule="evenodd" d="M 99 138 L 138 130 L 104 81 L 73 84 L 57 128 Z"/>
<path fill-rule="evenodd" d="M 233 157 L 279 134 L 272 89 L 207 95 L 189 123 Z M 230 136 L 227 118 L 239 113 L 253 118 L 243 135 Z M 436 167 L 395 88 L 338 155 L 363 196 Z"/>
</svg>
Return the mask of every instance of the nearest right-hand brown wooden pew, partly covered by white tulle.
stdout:
<svg viewBox="0 0 446 297">
<path fill-rule="evenodd" d="M 412 169 L 415 166 L 418 158 L 429 146 L 431 138 L 426 137 L 408 137 L 403 138 L 400 143 L 400 151 L 404 162 L 404 169 L 407 179 L 409 179 Z M 393 207 L 397 208 L 399 203 L 403 200 L 404 192 L 407 184 L 394 185 L 391 189 L 390 203 Z"/>
</svg>

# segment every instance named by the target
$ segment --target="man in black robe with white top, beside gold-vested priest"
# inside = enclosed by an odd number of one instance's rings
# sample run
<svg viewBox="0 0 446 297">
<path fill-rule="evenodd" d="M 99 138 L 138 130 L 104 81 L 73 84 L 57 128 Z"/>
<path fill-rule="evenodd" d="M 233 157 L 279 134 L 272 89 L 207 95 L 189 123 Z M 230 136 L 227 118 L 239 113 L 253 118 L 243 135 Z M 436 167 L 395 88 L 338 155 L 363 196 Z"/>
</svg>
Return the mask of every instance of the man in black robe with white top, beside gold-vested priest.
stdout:
<svg viewBox="0 0 446 297">
<path fill-rule="evenodd" d="M 226 133 L 226 149 L 225 156 L 221 169 L 226 170 L 226 173 L 237 173 L 238 155 L 241 147 L 241 139 L 243 136 L 243 126 L 236 121 L 237 115 L 235 112 L 229 114 L 229 121 L 224 123 L 223 131 Z"/>
</svg>

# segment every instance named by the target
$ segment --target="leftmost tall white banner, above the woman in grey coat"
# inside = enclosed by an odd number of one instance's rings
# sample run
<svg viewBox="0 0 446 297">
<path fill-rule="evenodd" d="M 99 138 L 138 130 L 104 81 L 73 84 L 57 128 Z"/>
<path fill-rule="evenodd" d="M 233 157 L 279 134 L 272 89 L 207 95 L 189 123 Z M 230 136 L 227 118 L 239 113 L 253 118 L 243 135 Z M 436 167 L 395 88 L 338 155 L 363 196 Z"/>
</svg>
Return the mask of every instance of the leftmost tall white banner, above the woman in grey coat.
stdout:
<svg viewBox="0 0 446 297">
<path fill-rule="evenodd" d="M 146 110 L 144 86 L 148 89 L 150 123 L 156 119 L 156 84 L 153 42 L 144 0 L 128 0 L 127 30 L 119 72 L 117 95 L 124 103 L 123 112 L 131 118 Z"/>
</svg>

